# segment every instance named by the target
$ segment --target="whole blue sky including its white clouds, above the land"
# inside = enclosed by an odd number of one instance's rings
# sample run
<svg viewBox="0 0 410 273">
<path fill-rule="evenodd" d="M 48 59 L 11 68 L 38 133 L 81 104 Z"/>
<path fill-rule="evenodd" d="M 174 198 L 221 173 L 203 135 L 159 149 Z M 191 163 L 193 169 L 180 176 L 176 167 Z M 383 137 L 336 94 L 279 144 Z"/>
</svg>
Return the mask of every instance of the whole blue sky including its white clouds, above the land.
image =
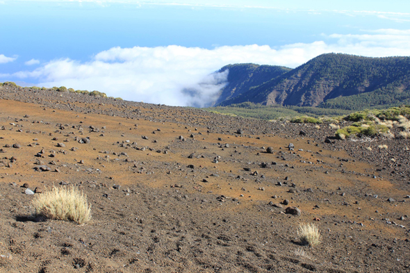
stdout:
<svg viewBox="0 0 410 273">
<path fill-rule="evenodd" d="M 0 81 L 190 105 L 181 90 L 229 63 L 410 56 L 410 1 L 341 2 L 0 0 Z"/>
</svg>

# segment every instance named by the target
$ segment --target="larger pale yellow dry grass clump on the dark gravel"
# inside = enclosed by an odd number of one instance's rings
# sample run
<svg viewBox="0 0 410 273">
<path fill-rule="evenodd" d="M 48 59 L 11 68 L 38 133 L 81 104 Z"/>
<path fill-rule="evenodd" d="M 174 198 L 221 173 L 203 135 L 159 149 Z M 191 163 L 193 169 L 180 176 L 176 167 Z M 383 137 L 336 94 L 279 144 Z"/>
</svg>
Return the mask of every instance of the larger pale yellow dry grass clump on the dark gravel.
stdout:
<svg viewBox="0 0 410 273">
<path fill-rule="evenodd" d="M 49 219 L 72 220 L 84 224 L 91 219 L 87 196 L 77 188 L 56 188 L 33 199 L 35 214 Z"/>
</svg>

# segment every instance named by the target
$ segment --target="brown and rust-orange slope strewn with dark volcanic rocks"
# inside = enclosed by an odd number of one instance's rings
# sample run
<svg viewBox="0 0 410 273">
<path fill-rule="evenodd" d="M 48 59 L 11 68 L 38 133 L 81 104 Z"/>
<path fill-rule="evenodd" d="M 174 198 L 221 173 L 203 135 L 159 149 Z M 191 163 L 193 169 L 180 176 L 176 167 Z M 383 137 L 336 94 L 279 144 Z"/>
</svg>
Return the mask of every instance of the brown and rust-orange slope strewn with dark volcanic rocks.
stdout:
<svg viewBox="0 0 410 273">
<path fill-rule="evenodd" d="M 0 87 L 0 272 L 408 272 L 410 141 L 333 136 Z M 92 220 L 32 217 L 53 185 L 83 190 Z M 316 247 L 297 236 L 311 222 Z"/>
</svg>

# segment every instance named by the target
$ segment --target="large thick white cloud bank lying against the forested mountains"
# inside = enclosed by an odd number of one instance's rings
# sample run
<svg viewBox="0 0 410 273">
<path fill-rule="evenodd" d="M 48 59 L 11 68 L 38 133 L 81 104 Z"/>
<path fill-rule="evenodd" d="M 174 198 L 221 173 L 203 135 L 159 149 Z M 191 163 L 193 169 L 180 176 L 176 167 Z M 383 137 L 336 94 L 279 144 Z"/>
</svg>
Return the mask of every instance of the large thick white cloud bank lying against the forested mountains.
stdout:
<svg viewBox="0 0 410 273">
<path fill-rule="evenodd" d="M 333 34 L 322 35 L 322 38 L 317 42 L 278 48 L 257 44 L 215 49 L 176 45 L 113 47 L 97 53 L 88 62 L 69 58 L 52 60 L 33 71 L 10 76 L 35 79 L 40 86 L 65 85 L 74 89 L 99 90 L 109 96 L 133 101 L 205 106 L 215 98 L 227 78 L 227 74 L 209 74 L 228 64 L 297 67 L 315 56 L 331 52 L 371 57 L 410 56 L 408 30 L 380 29 L 366 31 L 363 35 Z"/>
</svg>

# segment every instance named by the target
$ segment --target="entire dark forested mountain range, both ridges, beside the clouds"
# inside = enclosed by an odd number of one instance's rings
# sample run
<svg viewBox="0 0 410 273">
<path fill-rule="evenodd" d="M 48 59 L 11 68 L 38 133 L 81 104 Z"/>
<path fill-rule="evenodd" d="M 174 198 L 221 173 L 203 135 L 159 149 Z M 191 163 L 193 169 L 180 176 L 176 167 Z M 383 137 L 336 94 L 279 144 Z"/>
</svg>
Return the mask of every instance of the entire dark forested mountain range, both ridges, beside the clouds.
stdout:
<svg viewBox="0 0 410 273">
<path fill-rule="evenodd" d="M 216 105 L 251 101 L 356 110 L 410 104 L 410 57 L 368 58 L 328 53 L 295 69 L 270 67 L 272 73 L 269 69 L 246 73 L 247 69 L 252 71 L 251 66 L 227 66 L 229 84 L 222 89 Z"/>
</svg>

